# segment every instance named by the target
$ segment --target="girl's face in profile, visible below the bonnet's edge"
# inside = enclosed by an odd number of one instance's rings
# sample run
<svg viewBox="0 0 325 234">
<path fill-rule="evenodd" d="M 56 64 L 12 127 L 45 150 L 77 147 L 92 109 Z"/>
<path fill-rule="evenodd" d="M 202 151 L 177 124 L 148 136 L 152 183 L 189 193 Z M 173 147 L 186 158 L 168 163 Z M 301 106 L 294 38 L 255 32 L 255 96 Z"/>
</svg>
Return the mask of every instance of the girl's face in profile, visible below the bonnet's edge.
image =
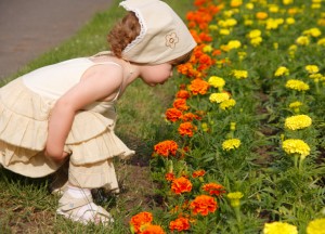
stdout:
<svg viewBox="0 0 325 234">
<path fill-rule="evenodd" d="M 145 65 L 141 69 L 142 80 L 151 87 L 165 83 L 172 77 L 173 66 L 169 63 Z"/>
</svg>

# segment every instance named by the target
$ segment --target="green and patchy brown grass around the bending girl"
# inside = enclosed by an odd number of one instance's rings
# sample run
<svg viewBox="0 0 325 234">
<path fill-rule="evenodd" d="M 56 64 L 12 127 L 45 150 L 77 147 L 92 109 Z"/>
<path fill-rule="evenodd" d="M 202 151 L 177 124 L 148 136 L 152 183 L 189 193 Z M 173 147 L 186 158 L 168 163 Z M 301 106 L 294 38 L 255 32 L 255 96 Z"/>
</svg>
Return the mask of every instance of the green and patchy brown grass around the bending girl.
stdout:
<svg viewBox="0 0 325 234">
<path fill-rule="evenodd" d="M 168 2 L 181 16 L 192 6 L 191 0 Z M 117 1 L 98 13 L 70 39 L 63 42 L 1 84 L 38 67 L 67 58 L 88 56 L 107 50 L 106 34 L 112 25 L 123 15 Z M 0 86 L 1 86 L 0 84 Z M 115 223 L 109 227 L 80 225 L 55 214 L 58 197 L 48 192 L 51 177 L 27 179 L 0 169 L 0 230 L 1 233 L 128 233 L 128 219 L 143 207 L 155 206 L 147 159 L 155 142 L 167 133 L 161 127 L 162 115 L 174 93 L 172 81 L 164 87 L 150 88 L 142 81 L 133 82 L 118 103 L 116 132 L 138 154 L 131 162 L 117 161 L 117 173 L 122 193 L 98 202 L 113 213 Z M 136 180 L 136 178 L 139 180 Z"/>
</svg>

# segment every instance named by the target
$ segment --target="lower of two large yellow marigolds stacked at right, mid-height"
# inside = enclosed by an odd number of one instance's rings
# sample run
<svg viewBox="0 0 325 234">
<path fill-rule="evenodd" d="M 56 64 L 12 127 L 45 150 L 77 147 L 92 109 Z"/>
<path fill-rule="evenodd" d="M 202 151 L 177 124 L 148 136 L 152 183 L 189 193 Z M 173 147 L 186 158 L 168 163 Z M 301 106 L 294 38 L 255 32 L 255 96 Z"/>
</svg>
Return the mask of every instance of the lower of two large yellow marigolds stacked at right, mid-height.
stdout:
<svg viewBox="0 0 325 234">
<path fill-rule="evenodd" d="M 310 154 L 310 147 L 304 141 L 299 139 L 288 139 L 282 144 L 283 150 L 287 154 L 299 154 L 302 158 L 306 158 Z"/>
</svg>

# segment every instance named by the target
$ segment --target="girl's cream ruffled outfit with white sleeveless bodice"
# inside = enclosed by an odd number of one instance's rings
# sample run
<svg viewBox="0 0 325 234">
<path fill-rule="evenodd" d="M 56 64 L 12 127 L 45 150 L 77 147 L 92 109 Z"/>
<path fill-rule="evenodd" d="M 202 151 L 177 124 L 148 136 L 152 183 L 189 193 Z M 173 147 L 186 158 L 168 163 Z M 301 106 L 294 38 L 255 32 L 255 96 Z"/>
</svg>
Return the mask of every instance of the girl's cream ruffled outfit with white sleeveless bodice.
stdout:
<svg viewBox="0 0 325 234">
<path fill-rule="evenodd" d="M 88 57 L 68 60 L 36 69 L 0 88 L 0 164 L 4 168 L 40 178 L 61 167 L 43 155 L 51 109 L 88 68 L 98 64 Z M 114 133 L 115 100 L 93 103 L 76 114 L 65 143 L 65 151 L 72 154 L 70 183 L 118 188 L 112 159 L 130 157 L 134 152 Z"/>
</svg>

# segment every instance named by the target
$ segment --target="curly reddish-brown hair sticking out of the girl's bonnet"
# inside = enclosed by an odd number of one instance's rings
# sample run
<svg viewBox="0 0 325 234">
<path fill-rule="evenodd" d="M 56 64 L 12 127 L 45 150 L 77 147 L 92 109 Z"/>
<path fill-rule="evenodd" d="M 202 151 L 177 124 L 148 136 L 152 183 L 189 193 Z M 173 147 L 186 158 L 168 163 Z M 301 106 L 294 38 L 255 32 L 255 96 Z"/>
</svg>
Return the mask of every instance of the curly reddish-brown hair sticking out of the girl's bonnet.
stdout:
<svg viewBox="0 0 325 234">
<path fill-rule="evenodd" d="M 107 42 L 110 46 L 110 51 L 121 57 L 123 49 L 133 41 L 140 34 L 141 26 L 139 20 L 133 12 L 128 14 L 118 22 L 107 35 Z"/>
</svg>

